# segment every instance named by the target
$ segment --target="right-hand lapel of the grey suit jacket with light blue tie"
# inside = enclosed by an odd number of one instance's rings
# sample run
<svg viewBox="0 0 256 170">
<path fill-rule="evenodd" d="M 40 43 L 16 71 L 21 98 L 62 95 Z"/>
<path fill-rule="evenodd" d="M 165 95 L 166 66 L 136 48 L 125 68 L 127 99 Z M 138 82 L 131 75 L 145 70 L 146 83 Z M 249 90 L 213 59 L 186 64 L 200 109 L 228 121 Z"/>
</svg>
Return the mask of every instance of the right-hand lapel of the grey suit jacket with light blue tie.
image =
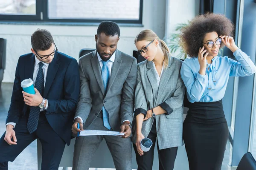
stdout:
<svg viewBox="0 0 256 170">
<path fill-rule="evenodd" d="M 116 49 L 116 56 L 115 56 L 115 61 L 113 63 L 112 69 L 111 69 L 111 76 L 110 79 L 108 81 L 108 90 L 111 88 L 111 86 L 113 85 L 114 80 L 116 79 L 116 75 L 119 71 L 119 68 L 122 64 L 122 59 L 121 59 L 121 53 L 118 49 Z"/>
</svg>

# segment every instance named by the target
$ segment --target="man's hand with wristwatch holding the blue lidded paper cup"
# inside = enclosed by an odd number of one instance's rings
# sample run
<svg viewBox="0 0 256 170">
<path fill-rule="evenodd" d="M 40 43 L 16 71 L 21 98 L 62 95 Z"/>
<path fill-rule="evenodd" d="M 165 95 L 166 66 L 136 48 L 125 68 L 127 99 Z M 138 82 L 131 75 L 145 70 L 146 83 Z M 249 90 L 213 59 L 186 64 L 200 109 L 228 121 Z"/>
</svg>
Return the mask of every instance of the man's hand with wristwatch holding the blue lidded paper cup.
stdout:
<svg viewBox="0 0 256 170">
<path fill-rule="evenodd" d="M 36 88 L 35 88 L 35 94 L 29 94 L 29 93 L 26 93 L 25 91 L 22 91 L 22 93 L 23 93 L 24 102 L 26 105 L 37 107 L 43 101 L 43 97 L 41 96 L 41 94 Z"/>
</svg>

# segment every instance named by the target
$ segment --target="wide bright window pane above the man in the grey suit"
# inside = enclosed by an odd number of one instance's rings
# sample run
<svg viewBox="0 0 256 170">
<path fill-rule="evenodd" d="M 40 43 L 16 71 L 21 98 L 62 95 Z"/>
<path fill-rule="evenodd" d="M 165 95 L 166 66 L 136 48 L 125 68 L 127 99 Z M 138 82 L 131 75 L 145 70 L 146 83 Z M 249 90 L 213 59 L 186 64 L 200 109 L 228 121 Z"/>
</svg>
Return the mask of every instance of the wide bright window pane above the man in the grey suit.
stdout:
<svg viewBox="0 0 256 170">
<path fill-rule="evenodd" d="M 139 20 L 140 0 L 48 0 L 50 19 Z"/>
</svg>

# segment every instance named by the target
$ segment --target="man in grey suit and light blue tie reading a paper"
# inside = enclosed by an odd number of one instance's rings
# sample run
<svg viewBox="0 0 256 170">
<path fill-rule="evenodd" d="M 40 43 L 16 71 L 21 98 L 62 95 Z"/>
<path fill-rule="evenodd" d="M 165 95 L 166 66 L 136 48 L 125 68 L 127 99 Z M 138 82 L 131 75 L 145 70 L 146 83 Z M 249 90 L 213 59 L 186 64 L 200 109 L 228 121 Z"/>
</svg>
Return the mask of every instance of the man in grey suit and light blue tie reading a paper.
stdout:
<svg viewBox="0 0 256 170">
<path fill-rule="evenodd" d="M 137 61 L 117 49 L 119 26 L 110 21 L 100 23 L 95 35 L 96 51 L 79 59 L 80 96 L 72 127 L 124 132 L 117 136 L 80 136 L 76 139 L 74 170 L 88 170 L 93 154 L 103 138 L 113 157 L 116 170 L 131 170 L 131 121 Z M 77 128 L 79 123 L 80 129 Z"/>
</svg>

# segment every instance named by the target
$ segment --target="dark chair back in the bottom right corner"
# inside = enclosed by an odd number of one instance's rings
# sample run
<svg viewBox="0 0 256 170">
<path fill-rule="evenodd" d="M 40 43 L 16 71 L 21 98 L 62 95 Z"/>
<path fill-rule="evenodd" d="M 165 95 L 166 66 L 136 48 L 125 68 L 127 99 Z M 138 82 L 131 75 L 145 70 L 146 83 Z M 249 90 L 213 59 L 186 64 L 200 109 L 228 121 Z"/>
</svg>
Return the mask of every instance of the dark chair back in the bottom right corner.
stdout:
<svg viewBox="0 0 256 170">
<path fill-rule="evenodd" d="M 256 161 L 250 152 L 244 154 L 236 170 L 256 170 Z"/>
</svg>

